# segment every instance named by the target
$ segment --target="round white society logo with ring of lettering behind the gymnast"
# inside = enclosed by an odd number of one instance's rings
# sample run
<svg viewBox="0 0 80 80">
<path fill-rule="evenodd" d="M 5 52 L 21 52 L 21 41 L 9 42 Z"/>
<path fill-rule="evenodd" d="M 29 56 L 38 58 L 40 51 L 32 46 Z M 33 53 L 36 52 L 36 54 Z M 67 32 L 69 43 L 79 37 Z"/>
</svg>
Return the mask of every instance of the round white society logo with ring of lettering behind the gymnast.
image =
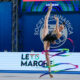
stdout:
<svg viewBox="0 0 80 80">
<path fill-rule="evenodd" d="M 62 46 L 66 42 L 68 36 L 73 34 L 73 27 L 71 25 L 71 22 L 62 15 L 56 15 L 56 16 L 59 18 L 59 25 L 65 22 L 65 28 L 61 32 L 62 37 L 56 40 L 56 44 L 51 44 L 51 48 L 58 48 Z M 53 31 L 56 27 L 56 20 L 53 17 L 54 15 L 51 15 L 48 20 L 49 31 Z M 36 24 L 34 35 L 40 37 L 42 42 L 43 42 L 42 40 L 43 27 L 44 27 L 44 18 L 41 18 L 39 22 Z"/>
</svg>

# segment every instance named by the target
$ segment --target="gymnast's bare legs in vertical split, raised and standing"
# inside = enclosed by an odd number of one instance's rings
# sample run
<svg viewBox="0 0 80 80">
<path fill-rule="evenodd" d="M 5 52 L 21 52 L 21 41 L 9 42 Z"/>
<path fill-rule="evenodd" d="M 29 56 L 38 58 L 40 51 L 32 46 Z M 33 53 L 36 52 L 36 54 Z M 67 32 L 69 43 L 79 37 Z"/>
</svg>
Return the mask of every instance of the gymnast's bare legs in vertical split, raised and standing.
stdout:
<svg viewBox="0 0 80 80">
<path fill-rule="evenodd" d="M 48 34 L 48 19 L 49 19 L 51 10 L 52 10 L 52 4 L 50 4 L 50 7 L 48 7 L 48 12 L 45 16 L 42 39 L 44 39 L 46 37 L 46 35 Z M 49 48 L 50 48 L 50 42 L 44 41 L 44 50 L 49 50 Z M 48 52 L 45 53 L 45 56 L 46 56 L 46 60 L 47 60 L 47 65 L 50 66 L 50 59 L 49 59 Z M 49 72 L 51 72 L 51 68 L 48 68 L 48 69 L 49 69 Z M 51 78 L 53 77 L 52 74 L 49 74 L 49 75 Z"/>
</svg>

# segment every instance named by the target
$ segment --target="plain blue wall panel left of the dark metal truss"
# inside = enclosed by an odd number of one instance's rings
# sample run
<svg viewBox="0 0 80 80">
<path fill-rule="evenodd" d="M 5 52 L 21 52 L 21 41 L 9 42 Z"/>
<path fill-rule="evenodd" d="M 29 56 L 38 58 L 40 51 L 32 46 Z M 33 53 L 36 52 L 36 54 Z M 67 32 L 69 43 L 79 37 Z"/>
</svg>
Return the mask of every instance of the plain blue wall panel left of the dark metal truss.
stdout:
<svg viewBox="0 0 80 80">
<path fill-rule="evenodd" d="M 12 3 L 0 2 L 0 51 L 11 51 Z"/>
</svg>

